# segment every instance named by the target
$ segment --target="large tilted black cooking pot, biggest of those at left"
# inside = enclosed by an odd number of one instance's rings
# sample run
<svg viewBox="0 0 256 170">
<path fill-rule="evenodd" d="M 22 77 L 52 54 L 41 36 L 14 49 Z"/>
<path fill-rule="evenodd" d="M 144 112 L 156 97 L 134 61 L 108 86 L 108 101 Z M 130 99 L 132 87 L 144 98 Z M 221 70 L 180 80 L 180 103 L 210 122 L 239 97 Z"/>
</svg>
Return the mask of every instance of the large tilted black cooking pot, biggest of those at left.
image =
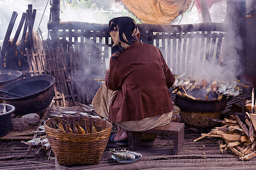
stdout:
<svg viewBox="0 0 256 170">
<path fill-rule="evenodd" d="M 0 96 L 0 99 L 14 106 L 15 114 L 41 113 L 53 99 L 54 82 L 55 78 L 48 75 L 18 80 L 1 89 L 15 95 Z"/>
</svg>

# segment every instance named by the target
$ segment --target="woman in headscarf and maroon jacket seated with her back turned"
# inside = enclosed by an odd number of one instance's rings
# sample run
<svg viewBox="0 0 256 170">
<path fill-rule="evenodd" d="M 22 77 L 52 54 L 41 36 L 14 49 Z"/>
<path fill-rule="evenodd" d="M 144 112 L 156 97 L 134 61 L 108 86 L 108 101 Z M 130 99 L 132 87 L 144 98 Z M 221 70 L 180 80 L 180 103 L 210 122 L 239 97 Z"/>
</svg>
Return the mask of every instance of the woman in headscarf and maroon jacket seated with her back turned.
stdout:
<svg viewBox="0 0 256 170">
<path fill-rule="evenodd" d="M 117 125 L 114 141 L 122 141 L 127 131 L 143 132 L 170 122 L 174 106 L 168 88 L 175 77 L 160 50 L 139 41 L 134 19 L 113 18 L 109 27 L 114 42 L 110 69 L 92 105 Z"/>
</svg>

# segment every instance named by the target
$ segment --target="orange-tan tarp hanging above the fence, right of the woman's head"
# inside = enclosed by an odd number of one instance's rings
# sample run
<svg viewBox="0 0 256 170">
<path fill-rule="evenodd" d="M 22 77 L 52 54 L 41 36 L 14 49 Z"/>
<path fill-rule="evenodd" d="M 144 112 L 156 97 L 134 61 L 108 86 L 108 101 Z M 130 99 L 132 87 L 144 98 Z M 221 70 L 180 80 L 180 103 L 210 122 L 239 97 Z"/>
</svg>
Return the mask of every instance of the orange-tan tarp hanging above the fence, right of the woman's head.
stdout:
<svg viewBox="0 0 256 170">
<path fill-rule="evenodd" d="M 168 25 L 185 12 L 193 0 L 122 0 L 144 23 Z"/>
</svg>

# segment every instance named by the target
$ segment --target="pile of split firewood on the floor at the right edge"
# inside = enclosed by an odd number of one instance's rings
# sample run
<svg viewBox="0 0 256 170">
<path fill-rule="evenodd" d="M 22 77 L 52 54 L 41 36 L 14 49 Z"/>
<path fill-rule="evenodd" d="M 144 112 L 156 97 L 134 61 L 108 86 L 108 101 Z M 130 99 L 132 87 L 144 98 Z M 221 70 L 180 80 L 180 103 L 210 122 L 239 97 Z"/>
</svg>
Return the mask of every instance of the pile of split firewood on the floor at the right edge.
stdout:
<svg viewBox="0 0 256 170">
<path fill-rule="evenodd" d="M 252 95 L 251 107 L 244 107 L 245 109 L 242 111 L 244 113 L 234 112 L 224 120 L 210 119 L 223 126 L 211 129 L 207 134 L 201 134 L 202 136 L 195 139 L 194 142 L 203 137 L 219 137 L 221 153 L 227 150 L 231 151 L 243 161 L 256 157 L 256 114 L 253 111 L 255 108 L 253 98 Z"/>
</svg>

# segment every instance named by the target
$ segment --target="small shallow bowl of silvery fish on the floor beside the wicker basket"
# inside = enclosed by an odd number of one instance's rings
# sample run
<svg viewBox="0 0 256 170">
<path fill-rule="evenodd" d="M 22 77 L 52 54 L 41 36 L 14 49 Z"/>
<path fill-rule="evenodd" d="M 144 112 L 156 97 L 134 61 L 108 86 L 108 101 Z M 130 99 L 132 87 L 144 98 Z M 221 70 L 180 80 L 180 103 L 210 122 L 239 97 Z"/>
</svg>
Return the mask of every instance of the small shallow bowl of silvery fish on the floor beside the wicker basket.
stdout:
<svg viewBox="0 0 256 170">
<path fill-rule="evenodd" d="M 142 158 L 140 153 L 126 151 L 125 149 L 120 151 L 110 149 L 110 153 L 112 153 L 111 158 L 119 163 L 132 163 Z"/>
</svg>

